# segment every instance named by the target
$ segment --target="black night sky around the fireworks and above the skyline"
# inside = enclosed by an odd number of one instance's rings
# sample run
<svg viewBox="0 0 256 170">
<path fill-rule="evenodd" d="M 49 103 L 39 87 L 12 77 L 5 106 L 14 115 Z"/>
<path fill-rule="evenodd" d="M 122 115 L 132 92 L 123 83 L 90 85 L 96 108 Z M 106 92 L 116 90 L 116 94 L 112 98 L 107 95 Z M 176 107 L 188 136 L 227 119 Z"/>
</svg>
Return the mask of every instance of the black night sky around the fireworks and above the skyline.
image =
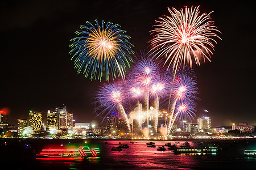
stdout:
<svg viewBox="0 0 256 170">
<path fill-rule="evenodd" d="M 90 122 L 92 97 L 100 85 L 77 74 L 69 40 L 86 20 L 110 21 L 131 36 L 133 50 L 147 48 L 155 20 L 167 7 L 200 5 L 214 11 L 222 32 L 211 63 L 196 67 L 200 92 L 197 115 L 208 109 L 213 126 L 248 122 L 256 125 L 255 6 L 253 1 L 5 1 L 0 6 L 0 108 L 9 122 L 27 118 L 28 110 L 67 105 L 76 121 Z M 97 120 L 100 123 L 100 120 Z"/>
</svg>

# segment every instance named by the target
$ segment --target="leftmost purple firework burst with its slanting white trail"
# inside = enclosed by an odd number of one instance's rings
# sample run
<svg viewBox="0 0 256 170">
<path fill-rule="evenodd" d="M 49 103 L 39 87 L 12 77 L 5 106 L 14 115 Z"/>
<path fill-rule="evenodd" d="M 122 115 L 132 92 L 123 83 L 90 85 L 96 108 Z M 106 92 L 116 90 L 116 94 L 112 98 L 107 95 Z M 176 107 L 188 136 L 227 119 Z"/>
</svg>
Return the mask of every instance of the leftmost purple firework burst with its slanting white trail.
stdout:
<svg viewBox="0 0 256 170">
<path fill-rule="evenodd" d="M 104 115 L 102 121 L 109 117 L 115 118 L 115 116 L 117 116 L 118 119 L 123 118 L 130 131 L 129 120 L 125 108 L 123 108 L 123 104 L 125 104 L 126 100 L 125 90 L 121 83 L 108 83 L 101 86 L 96 93 L 95 99 L 95 104 L 98 105 L 96 112 L 100 111 L 98 116 Z"/>
</svg>

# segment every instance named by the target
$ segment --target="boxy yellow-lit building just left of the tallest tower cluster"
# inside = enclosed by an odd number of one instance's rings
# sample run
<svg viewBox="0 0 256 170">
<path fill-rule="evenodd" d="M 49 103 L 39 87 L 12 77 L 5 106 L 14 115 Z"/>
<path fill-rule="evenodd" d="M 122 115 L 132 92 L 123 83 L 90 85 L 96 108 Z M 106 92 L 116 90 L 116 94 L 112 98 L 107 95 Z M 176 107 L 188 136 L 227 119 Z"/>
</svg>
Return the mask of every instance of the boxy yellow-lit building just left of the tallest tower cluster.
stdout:
<svg viewBox="0 0 256 170">
<path fill-rule="evenodd" d="M 43 112 L 30 111 L 28 113 L 28 126 L 30 126 L 34 131 L 42 130 L 42 114 Z"/>
</svg>

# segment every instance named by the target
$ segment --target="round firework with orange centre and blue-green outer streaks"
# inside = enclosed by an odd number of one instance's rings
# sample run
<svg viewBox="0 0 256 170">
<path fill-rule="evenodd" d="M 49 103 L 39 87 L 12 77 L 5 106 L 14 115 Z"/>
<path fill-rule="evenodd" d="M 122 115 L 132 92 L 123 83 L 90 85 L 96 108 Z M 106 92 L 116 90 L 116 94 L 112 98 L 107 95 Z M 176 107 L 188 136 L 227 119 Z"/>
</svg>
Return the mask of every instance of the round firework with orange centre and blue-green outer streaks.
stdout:
<svg viewBox="0 0 256 170">
<path fill-rule="evenodd" d="M 102 21 L 101 25 L 95 20 L 96 24 L 86 22 L 81 25 L 85 31 L 76 31 L 77 37 L 71 39 L 73 43 L 69 45 L 72 50 L 69 54 L 71 59 L 75 59 L 75 68 L 77 73 L 85 74 L 86 78 L 100 79 L 106 74 L 106 80 L 112 76 L 124 76 L 126 67 L 130 66 L 132 60 L 130 54 L 133 54 L 125 35 L 126 31 L 118 29 L 119 25 Z"/>
</svg>

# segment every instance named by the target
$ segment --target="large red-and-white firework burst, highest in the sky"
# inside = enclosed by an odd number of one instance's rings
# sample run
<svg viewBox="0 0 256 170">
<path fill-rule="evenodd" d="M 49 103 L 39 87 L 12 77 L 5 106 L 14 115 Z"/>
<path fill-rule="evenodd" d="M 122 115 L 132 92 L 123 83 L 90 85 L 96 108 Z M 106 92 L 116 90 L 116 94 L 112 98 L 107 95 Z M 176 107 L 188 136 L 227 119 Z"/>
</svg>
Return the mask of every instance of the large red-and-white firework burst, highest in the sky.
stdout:
<svg viewBox="0 0 256 170">
<path fill-rule="evenodd" d="M 165 57 L 164 65 L 173 66 L 172 70 L 177 70 L 188 62 L 200 66 L 201 58 L 210 61 L 210 54 L 213 54 L 213 37 L 220 37 L 216 34 L 220 31 L 214 26 L 209 14 L 199 15 L 199 6 L 191 9 L 185 7 L 180 11 L 175 8 L 168 8 L 171 16 L 159 18 L 152 30 L 154 38 L 150 41 L 151 52 L 156 58 Z M 208 57 L 209 56 L 209 57 Z"/>
</svg>

